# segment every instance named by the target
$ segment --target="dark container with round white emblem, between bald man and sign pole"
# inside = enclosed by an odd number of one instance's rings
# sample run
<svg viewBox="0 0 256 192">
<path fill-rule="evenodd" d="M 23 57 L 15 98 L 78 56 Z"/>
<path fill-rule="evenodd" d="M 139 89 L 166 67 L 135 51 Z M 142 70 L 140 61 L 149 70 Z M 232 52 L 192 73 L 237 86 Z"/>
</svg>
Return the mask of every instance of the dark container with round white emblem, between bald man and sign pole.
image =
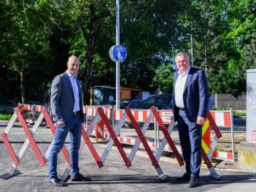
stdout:
<svg viewBox="0 0 256 192">
<path fill-rule="evenodd" d="M 104 85 L 94 86 L 91 87 L 90 96 L 91 106 L 102 106 L 116 99 L 116 89 Z"/>
</svg>

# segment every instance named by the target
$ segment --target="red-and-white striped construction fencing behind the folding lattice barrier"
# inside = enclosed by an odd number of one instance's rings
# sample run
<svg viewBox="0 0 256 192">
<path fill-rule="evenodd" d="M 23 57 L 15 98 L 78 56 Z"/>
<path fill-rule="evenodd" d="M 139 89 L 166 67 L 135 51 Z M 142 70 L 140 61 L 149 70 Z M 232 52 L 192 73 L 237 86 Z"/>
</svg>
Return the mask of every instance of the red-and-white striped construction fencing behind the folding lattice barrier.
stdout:
<svg viewBox="0 0 256 192">
<path fill-rule="evenodd" d="M 38 111 L 41 111 L 42 106 L 36 106 L 36 105 L 25 105 L 25 104 L 19 104 L 19 107 L 22 107 L 25 110 L 25 116 L 24 119 L 26 122 L 28 123 L 35 123 L 35 119 L 34 118 L 34 113 L 37 113 Z M 87 117 L 94 117 L 96 114 L 96 110 L 94 110 L 95 108 L 98 108 L 100 106 L 83 106 L 83 111 L 84 114 L 86 114 Z M 120 119 L 120 117 L 123 114 L 124 110 L 111 110 L 111 106 L 104 106 L 103 108 L 105 108 L 105 114 L 107 115 L 108 119 L 112 119 L 112 126 L 115 127 L 114 125 L 114 121 L 118 121 Z M 48 113 L 51 113 L 51 109 L 49 106 L 46 107 Z M 114 108 L 113 108 L 114 109 Z M 23 110 L 23 111 L 24 111 Z M 26 112 L 33 112 L 33 117 L 30 118 L 26 117 Z M 21 109 L 22 112 L 22 109 Z M 161 118 L 163 119 L 163 122 L 165 124 L 169 124 L 170 123 L 170 110 L 162 110 L 161 111 Z M 213 157 L 214 158 L 218 158 L 218 159 L 228 159 L 228 160 L 233 160 L 235 161 L 235 147 L 234 147 L 234 127 L 233 127 L 233 117 L 232 117 L 232 110 L 230 108 L 230 111 L 210 111 L 214 121 L 216 122 L 217 126 L 220 127 L 221 130 L 223 130 L 224 132 L 226 132 L 226 135 L 228 134 L 228 137 L 230 137 L 231 135 L 231 139 L 224 139 L 222 138 L 220 140 L 221 143 L 226 143 L 225 146 L 222 146 L 225 150 L 221 150 L 220 148 L 218 148 L 217 151 L 214 151 L 213 153 Z M 135 119 L 137 122 L 145 122 L 146 118 L 149 114 L 149 111 L 132 111 L 132 114 L 134 115 Z M 167 117 L 167 118 L 166 118 Z M 88 123 L 88 118 L 86 118 L 86 122 L 84 123 L 84 127 L 87 129 L 89 127 L 89 123 Z M 127 121 L 129 122 L 129 118 L 127 119 Z M 154 123 L 154 118 L 152 119 L 152 123 Z M 47 122 L 42 121 L 41 123 L 42 125 L 47 125 Z M 110 135 L 107 133 L 104 133 L 104 130 L 107 131 L 107 127 L 106 125 L 102 126 L 102 122 L 100 123 L 101 125 L 95 125 L 94 129 L 92 130 L 92 135 L 95 135 L 96 138 L 110 138 Z M 127 126 L 127 124 L 125 123 L 124 126 Z M 230 129 L 229 129 L 230 127 Z M 203 127 L 204 128 L 204 127 Z M 135 130 L 134 130 L 135 131 Z M 203 140 L 202 140 L 202 145 L 203 148 L 207 151 L 207 148 L 210 147 L 210 140 L 209 138 L 209 129 L 206 129 L 206 133 L 205 135 L 203 135 Z M 120 137 L 118 137 L 120 142 L 123 143 L 127 143 L 127 144 L 131 144 L 134 145 L 135 143 L 135 139 L 132 138 L 126 138 L 124 136 L 118 135 Z M 225 137 L 226 138 L 226 137 Z M 211 138 L 213 139 L 213 138 Z M 156 142 L 156 140 L 158 142 Z M 148 141 L 148 144 L 151 148 L 155 148 L 157 149 L 157 146 L 159 147 L 159 138 L 155 138 L 155 141 Z M 221 145 L 220 145 L 221 146 Z M 226 146 L 232 146 L 232 151 L 226 151 Z M 181 148 L 179 145 L 176 145 L 177 149 L 181 152 Z M 164 148 L 164 150 L 166 151 L 172 151 L 171 147 L 167 144 Z"/>
</svg>

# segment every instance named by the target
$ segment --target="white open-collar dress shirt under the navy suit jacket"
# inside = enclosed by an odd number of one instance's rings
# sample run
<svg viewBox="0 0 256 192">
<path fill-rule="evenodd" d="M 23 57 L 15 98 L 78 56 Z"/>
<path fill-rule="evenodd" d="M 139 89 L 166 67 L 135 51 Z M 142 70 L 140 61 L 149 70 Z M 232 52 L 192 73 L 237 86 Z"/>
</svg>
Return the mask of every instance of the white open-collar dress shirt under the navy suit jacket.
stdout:
<svg viewBox="0 0 256 192">
<path fill-rule="evenodd" d="M 183 92 L 184 92 L 184 87 L 185 83 L 188 77 L 188 73 L 190 70 L 190 67 L 183 73 L 181 74 L 180 70 L 178 72 L 179 76 L 175 82 L 175 88 L 174 88 L 174 96 L 175 96 L 175 105 L 179 108 L 184 107 L 184 102 L 183 102 Z"/>
</svg>

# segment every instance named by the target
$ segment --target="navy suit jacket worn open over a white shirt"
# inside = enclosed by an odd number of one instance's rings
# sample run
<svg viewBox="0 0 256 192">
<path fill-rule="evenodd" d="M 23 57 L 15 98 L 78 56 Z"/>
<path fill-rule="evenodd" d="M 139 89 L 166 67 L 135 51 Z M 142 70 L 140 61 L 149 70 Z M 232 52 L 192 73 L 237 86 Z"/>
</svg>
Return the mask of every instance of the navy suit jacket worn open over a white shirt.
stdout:
<svg viewBox="0 0 256 192">
<path fill-rule="evenodd" d="M 178 120 L 179 109 L 175 105 L 175 83 L 178 71 L 173 74 L 173 110 L 174 121 Z M 209 91 L 204 70 L 190 67 L 189 74 L 183 91 L 183 102 L 186 115 L 190 122 L 196 122 L 197 116 L 207 116 Z"/>
</svg>

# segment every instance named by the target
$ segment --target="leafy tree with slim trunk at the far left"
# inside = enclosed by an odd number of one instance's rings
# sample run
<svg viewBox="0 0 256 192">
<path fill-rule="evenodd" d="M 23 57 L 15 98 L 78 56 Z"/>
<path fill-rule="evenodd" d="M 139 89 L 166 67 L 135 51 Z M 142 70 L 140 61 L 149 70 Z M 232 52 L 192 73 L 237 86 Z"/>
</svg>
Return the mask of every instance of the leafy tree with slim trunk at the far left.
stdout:
<svg viewBox="0 0 256 192">
<path fill-rule="evenodd" d="M 34 1 L 1 1 L 1 64 L 20 75 L 22 102 L 29 74 L 47 71 L 50 30 Z M 44 73 L 45 74 L 45 73 Z"/>
</svg>

